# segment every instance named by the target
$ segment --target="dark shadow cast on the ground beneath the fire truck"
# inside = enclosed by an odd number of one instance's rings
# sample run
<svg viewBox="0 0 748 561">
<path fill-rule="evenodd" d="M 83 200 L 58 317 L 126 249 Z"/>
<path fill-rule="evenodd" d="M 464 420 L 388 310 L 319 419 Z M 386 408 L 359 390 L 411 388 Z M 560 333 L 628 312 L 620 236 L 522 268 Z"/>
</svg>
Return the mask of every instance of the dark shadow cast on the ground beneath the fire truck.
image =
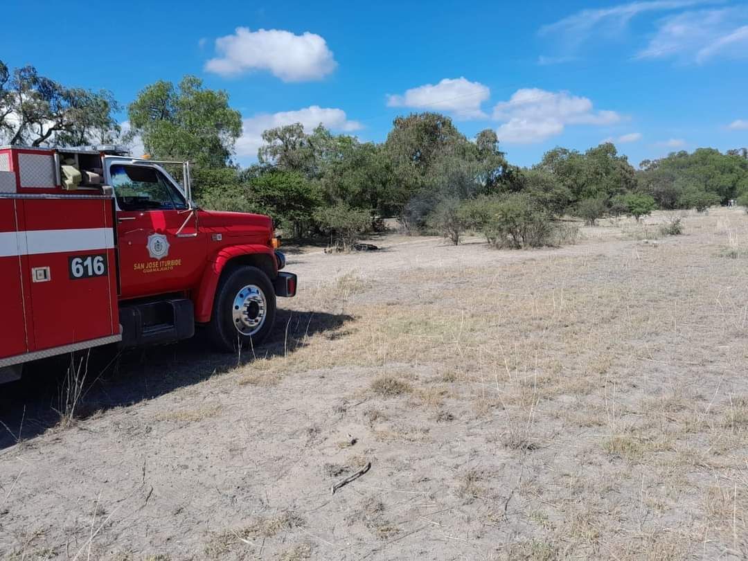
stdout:
<svg viewBox="0 0 748 561">
<path fill-rule="evenodd" d="M 315 334 L 339 330 L 346 314 L 278 310 L 269 343 L 241 354 L 215 352 L 200 331 L 174 345 L 119 352 L 102 347 L 90 355 L 65 355 L 31 364 L 21 381 L 0 385 L 0 450 L 58 426 L 65 410 L 71 361 L 85 375 L 75 417 L 153 399 L 197 384 L 258 358 L 291 355 Z"/>
</svg>

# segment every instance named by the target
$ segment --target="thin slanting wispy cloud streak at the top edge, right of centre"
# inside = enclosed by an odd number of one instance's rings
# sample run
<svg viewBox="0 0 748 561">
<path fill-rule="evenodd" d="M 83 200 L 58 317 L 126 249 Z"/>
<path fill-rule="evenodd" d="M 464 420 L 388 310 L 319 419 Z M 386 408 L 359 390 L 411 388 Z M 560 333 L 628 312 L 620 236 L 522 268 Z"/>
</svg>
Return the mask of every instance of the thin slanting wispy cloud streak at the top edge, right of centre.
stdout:
<svg viewBox="0 0 748 561">
<path fill-rule="evenodd" d="M 628 25 L 634 16 L 640 13 L 677 10 L 696 4 L 704 4 L 709 0 L 653 0 L 634 1 L 618 6 L 581 10 L 557 22 L 543 25 L 540 35 L 558 34 L 571 44 L 578 44 L 589 35 L 600 32 L 610 33 L 620 31 Z"/>
</svg>

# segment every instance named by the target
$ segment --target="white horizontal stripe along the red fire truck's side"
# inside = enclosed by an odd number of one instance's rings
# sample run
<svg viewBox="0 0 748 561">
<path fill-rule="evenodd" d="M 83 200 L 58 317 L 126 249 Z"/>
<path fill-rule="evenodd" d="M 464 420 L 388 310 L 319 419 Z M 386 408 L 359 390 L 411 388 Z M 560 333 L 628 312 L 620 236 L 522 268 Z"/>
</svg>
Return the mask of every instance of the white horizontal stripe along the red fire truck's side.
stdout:
<svg viewBox="0 0 748 561">
<path fill-rule="evenodd" d="M 0 257 L 72 253 L 114 248 L 111 228 L 0 232 Z"/>
</svg>

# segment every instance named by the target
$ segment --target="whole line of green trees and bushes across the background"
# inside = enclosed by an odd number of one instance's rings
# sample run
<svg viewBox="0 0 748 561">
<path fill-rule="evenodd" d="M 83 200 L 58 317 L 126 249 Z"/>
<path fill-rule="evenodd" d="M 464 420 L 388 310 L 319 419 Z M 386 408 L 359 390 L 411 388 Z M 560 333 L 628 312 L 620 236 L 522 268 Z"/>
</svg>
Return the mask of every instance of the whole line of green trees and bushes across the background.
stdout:
<svg viewBox="0 0 748 561">
<path fill-rule="evenodd" d="M 611 143 L 585 152 L 557 147 L 521 168 L 507 161 L 492 129 L 467 138 L 450 117 L 396 117 L 387 138 L 362 142 L 300 123 L 263 132 L 257 164 L 232 160 L 242 117 L 225 91 L 186 76 L 159 81 L 127 106 L 129 132 L 107 91 L 67 88 L 33 67 L 0 61 L 0 137 L 9 144 L 128 143 L 139 135 L 157 159 L 195 162 L 194 194 L 206 208 L 263 212 L 286 236 L 329 235 L 351 245 L 394 217 L 408 233 L 466 230 L 500 247 L 552 245 L 569 234 L 560 218 L 595 224 L 606 215 L 637 220 L 653 209 L 697 209 L 738 200 L 748 206 L 748 151 L 700 148 L 635 169 Z"/>
</svg>

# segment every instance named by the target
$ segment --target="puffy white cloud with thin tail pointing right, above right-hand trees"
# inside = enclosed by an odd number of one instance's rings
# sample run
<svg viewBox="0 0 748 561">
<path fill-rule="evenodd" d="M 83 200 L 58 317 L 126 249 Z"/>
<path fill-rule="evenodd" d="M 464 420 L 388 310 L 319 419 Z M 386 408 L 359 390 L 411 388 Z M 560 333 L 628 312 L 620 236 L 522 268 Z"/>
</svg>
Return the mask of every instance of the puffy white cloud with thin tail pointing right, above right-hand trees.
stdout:
<svg viewBox="0 0 748 561">
<path fill-rule="evenodd" d="M 494 120 L 504 121 L 497 129 L 499 140 L 530 144 L 560 135 L 566 125 L 610 125 L 621 120 L 616 111 L 595 111 L 586 97 L 566 91 L 551 92 L 524 88 L 509 101 L 494 106 Z"/>
</svg>

